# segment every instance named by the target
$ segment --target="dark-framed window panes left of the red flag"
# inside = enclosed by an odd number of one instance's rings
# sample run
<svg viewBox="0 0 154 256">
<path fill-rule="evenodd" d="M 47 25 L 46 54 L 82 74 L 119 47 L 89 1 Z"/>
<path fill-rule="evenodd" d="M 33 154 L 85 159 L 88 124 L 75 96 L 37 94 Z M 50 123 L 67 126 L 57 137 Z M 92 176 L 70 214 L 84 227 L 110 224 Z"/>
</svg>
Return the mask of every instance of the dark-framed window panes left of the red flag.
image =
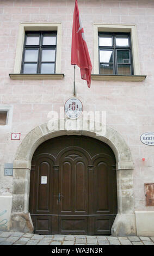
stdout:
<svg viewBox="0 0 154 256">
<path fill-rule="evenodd" d="M 57 31 L 26 32 L 21 74 L 55 74 Z"/>
</svg>

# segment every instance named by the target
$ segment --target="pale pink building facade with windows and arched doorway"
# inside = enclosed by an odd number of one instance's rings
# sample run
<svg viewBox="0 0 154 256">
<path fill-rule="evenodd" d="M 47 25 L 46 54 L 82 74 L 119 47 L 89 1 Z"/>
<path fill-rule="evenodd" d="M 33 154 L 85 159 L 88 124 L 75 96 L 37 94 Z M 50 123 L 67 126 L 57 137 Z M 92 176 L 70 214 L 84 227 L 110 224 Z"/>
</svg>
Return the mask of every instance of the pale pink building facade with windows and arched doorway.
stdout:
<svg viewBox="0 0 154 256">
<path fill-rule="evenodd" d="M 154 2 L 78 0 L 93 70 L 76 95 L 74 7 L 0 3 L 0 230 L 154 236 Z"/>
</svg>

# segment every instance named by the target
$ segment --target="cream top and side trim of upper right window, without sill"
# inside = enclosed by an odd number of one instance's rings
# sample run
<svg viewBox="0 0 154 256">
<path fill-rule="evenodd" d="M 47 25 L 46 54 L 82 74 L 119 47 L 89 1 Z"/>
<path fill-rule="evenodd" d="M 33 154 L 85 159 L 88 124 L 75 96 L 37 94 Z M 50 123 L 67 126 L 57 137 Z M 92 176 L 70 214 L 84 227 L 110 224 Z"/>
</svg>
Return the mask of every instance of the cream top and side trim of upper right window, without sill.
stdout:
<svg viewBox="0 0 154 256">
<path fill-rule="evenodd" d="M 136 25 L 94 23 L 94 74 L 99 74 L 98 62 L 98 32 L 130 32 L 133 53 L 134 75 L 140 75 L 138 40 Z"/>
</svg>

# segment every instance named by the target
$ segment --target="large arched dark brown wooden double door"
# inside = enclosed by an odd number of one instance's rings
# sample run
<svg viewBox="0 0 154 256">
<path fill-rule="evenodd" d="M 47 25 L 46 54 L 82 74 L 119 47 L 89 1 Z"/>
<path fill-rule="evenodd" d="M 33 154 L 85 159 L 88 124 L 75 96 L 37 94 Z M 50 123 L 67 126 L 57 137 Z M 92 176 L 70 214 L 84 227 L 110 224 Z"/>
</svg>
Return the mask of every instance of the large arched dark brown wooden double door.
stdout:
<svg viewBox="0 0 154 256">
<path fill-rule="evenodd" d="M 110 234 L 117 213 L 112 150 L 85 136 L 40 145 L 32 160 L 29 211 L 35 234 Z"/>
</svg>

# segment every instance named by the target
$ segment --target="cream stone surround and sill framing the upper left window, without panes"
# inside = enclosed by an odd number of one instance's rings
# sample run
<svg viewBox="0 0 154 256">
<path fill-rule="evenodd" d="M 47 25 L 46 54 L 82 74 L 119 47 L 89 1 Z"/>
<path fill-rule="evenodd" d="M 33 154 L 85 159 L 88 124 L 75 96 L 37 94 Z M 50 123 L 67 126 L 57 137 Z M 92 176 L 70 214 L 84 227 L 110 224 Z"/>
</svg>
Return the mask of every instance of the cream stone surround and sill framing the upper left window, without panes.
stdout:
<svg viewBox="0 0 154 256">
<path fill-rule="evenodd" d="M 21 64 L 22 64 L 22 53 L 23 53 L 23 44 L 24 44 L 24 35 L 26 31 L 57 31 L 57 51 L 56 51 L 56 74 L 51 74 L 46 76 L 46 74 L 31 74 L 30 77 L 25 74 L 20 74 Z M 19 34 L 17 39 L 16 46 L 16 55 L 15 55 L 15 65 L 14 65 L 14 74 L 10 74 L 12 79 L 20 79 L 30 78 L 30 79 L 41 79 L 41 78 L 51 78 L 56 77 L 58 79 L 58 75 L 61 72 L 61 22 L 26 22 L 20 23 L 19 25 Z M 23 75 L 23 76 L 22 76 Z M 60 77 L 62 78 L 62 77 Z M 59 79 L 60 79 L 59 78 Z M 46 78 L 45 78 L 46 79 Z"/>
</svg>

